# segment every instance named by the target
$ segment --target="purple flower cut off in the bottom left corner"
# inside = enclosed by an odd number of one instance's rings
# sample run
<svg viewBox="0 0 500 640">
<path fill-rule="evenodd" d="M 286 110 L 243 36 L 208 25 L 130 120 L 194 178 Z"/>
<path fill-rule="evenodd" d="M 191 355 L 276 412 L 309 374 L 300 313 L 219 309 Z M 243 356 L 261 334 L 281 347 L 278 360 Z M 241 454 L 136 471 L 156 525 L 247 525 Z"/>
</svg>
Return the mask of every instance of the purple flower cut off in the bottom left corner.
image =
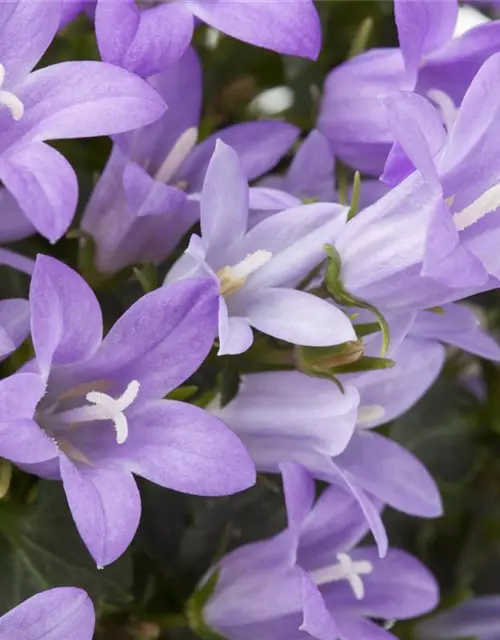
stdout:
<svg viewBox="0 0 500 640">
<path fill-rule="evenodd" d="M 0 618 L 10 640 L 92 640 L 95 613 L 90 598 L 73 587 L 43 591 Z"/>
</svg>

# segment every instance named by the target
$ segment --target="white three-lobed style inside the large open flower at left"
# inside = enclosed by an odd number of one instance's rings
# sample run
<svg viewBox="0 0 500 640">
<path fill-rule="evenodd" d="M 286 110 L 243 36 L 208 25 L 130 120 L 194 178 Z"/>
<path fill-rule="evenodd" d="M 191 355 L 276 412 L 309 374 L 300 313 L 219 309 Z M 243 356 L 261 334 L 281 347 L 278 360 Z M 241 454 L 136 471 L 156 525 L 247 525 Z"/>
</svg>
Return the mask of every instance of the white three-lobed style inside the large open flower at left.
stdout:
<svg viewBox="0 0 500 640">
<path fill-rule="evenodd" d="M 89 404 L 59 413 L 46 411 L 42 421 L 50 432 L 54 432 L 68 425 L 75 426 L 85 422 L 111 420 L 116 431 L 116 442 L 123 444 L 128 437 L 128 423 L 124 411 L 137 398 L 139 387 L 139 382 L 132 380 L 118 398 L 113 398 L 102 391 L 90 391 L 85 396 Z"/>
</svg>

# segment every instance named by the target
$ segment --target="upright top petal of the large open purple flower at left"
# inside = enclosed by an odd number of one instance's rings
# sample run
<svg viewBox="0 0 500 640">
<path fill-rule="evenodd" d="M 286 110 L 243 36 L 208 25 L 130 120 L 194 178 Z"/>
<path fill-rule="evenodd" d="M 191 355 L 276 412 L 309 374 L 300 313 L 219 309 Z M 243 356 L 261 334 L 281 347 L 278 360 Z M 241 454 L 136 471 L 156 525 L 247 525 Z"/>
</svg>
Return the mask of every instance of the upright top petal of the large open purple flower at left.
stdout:
<svg viewBox="0 0 500 640">
<path fill-rule="evenodd" d="M 102 339 L 101 308 L 73 269 L 39 255 L 30 286 L 31 335 L 40 372 L 88 358 Z"/>
</svg>

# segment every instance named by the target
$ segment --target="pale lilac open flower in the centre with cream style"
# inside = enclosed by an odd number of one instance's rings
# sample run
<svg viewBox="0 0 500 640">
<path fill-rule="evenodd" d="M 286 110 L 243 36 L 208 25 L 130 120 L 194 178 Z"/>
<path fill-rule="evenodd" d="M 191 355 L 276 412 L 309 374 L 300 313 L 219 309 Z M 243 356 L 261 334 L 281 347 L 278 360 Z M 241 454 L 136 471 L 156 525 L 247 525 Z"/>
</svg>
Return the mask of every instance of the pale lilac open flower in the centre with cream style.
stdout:
<svg viewBox="0 0 500 640">
<path fill-rule="evenodd" d="M 249 229 L 249 190 L 236 152 L 218 140 L 200 204 L 201 237 L 166 281 L 210 275 L 219 288 L 220 354 L 242 353 L 251 327 L 294 344 L 327 346 L 355 339 L 340 309 L 295 287 L 324 258 L 325 239 L 345 224 L 346 209 L 318 203 L 287 209 Z"/>
</svg>

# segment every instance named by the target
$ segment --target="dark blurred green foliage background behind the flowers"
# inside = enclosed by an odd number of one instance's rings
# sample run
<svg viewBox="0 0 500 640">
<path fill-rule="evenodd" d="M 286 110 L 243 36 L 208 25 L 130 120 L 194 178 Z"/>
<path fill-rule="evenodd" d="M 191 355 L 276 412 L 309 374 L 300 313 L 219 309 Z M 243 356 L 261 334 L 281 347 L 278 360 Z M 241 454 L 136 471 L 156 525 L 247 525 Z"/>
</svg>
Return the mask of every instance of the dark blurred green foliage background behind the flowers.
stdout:
<svg viewBox="0 0 500 640">
<path fill-rule="evenodd" d="M 367 46 L 397 44 L 390 0 L 316 2 L 324 35 L 317 62 L 285 58 L 229 37 L 222 37 L 212 51 L 206 45 L 206 28 L 198 29 L 195 45 L 202 58 L 205 96 L 202 137 L 252 119 L 250 101 L 264 89 L 280 85 L 289 86 L 295 97 L 280 117 L 307 132 L 314 127 L 325 75 L 359 47 L 368 27 Z M 98 59 L 93 26 L 85 17 L 59 34 L 42 64 L 75 59 Z M 56 146 L 77 171 L 81 211 L 111 143 L 93 139 Z M 17 243 L 27 255 L 50 253 L 75 268 L 82 267 L 85 258 L 78 255 L 77 246 L 71 238 L 56 246 L 40 237 Z M 27 296 L 25 276 L 5 268 L 0 271 L 3 297 Z M 131 284 L 119 277 L 97 293 L 111 325 L 141 289 L 137 281 Z M 489 326 L 500 329 L 500 294 L 489 293 L 476 301 Z M 8 375 L 29 355 L 30 346 L 23 345 L 2 363 L 0 373 Z M 225 374 L 219 382 L 230 384 L 231 376 L 237 375 L 234 363 L 226 358 L 217 366 L 221 365 Z M 216 373 L 209 364 L 203 373 L 208 386 Z M 483 400 L 468 391 L 466 378 L 480 387 Z M 435 387 L 384 430 L 428 465 L 445 505 L 445 516 L 433 521 L 388 510 L 385 521 L 392 543 L 416 554 L 434 571 L 443 605 L 471 592 L 500 593 L 500 371 L 450 352 Z M 214 558 L 272 535 L 285 524 L 277 477 L 260 477 L 253 489 L 220 499 L 184 496 L 146 481 L 140 481 L 140 489 L 143 515 L 134 544 L 118 562 L 98 571 L 76 533 L 62 488 L 14 470 L 9 492 L 0 500 L 0 613 L 40 590 L 74 585 L 85 588 L 96 603 L 98 638 L 192 638 L 181 614 Z M 393 631 L 410 639 L 412 626 L 400 624 Z"/>
</svg>

